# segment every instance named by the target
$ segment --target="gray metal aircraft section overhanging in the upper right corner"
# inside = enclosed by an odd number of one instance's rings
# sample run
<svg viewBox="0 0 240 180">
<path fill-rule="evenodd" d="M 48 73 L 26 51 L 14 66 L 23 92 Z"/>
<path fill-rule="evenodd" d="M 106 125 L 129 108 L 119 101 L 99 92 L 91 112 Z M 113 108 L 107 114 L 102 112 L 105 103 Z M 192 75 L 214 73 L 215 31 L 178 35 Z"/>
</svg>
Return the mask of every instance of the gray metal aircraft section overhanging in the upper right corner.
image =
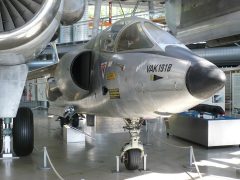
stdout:
<svg viewBox="0 0 240 180">
<path fill-rule="evenodd" d="M 206 42 L 208 47 L 240 41 L 240 1 L 167 0 L 169 29 L 184 44 Z"/>
</svg>

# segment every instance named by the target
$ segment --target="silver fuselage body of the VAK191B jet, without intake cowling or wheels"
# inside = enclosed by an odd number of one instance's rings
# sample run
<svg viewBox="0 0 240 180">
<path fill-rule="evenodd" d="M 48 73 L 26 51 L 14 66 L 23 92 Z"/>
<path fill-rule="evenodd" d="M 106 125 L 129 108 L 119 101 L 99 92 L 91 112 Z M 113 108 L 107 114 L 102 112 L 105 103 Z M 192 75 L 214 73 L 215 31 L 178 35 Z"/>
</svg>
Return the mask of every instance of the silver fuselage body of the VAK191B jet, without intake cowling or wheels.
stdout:
<svg viewBox="0 0 240 180">
<path fill-rule="evenodd" d="M 92 52 L 89 93 L 78 100 L 77 93 L 72 99 L 65 98 L 65 105 L 99 116 L 152 118 L 187 110 L 224 86 L 225 75 L 215 65 L 146 23 L 137 18 L 117 35 L 113 28 L 106 30 L 93 45 L 89 46 L 90 42 L 77 50 Z M 134 41 L 128 39 L 126 31 L 135 25 L 149 42 L 140 38 L 140 45 L 131 47 Z M 165 42 L 154 36 L 162 36 Z"/>
</svg>

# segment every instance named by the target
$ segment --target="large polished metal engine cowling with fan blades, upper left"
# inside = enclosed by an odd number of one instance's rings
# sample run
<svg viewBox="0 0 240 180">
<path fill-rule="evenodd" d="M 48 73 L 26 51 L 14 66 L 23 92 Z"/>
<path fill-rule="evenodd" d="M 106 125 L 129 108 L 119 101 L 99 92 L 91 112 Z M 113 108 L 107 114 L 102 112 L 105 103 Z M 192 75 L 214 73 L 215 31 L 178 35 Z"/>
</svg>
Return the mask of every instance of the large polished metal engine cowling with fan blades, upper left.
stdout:
<svg viewBox="0 0 240 180">
<path fill-rule="evenodd" d="M 63 0 L 0 0 L 0 65 L 26 63 L 47 46 Z"/>
</svg>

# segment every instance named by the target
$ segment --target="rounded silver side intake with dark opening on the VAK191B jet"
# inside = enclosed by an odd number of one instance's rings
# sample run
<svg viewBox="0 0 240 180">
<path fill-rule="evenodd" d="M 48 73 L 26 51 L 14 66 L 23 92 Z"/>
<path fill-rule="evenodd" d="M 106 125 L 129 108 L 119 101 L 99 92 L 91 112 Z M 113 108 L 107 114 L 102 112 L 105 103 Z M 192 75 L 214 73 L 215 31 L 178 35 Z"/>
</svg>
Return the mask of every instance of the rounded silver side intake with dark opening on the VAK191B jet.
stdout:
<svg viewBox="0 0 240 180">
<path fill-rule="evenodd" d="M 55 101 L 63 97 L 68 101 L 83 99 L 90 92 L 92 51 L 76 50 L 64 55 L 56 67 L 54 78 L 47 86 L 47 98 Z"/>
</svg>

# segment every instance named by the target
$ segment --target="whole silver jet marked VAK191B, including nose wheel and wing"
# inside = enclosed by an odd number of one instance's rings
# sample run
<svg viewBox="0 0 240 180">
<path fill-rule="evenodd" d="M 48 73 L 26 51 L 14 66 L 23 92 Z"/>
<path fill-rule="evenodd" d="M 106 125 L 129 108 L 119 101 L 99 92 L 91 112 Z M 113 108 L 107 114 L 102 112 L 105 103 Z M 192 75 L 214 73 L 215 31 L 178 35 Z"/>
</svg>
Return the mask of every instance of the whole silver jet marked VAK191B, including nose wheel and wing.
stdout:
<svg viewBox="0 0 240 180">
<path fill-rule="evenodd" d="M 121 117 L 131 140 L 121 153 L 129 170 L 139 167 L 144 119 L 185 111 L 211 97 L 225 74 L 152 22 L 118 21 L 60 62 L 29 76 L 49 73 L 47 96 L 80 114 Z"/>
</svg>

